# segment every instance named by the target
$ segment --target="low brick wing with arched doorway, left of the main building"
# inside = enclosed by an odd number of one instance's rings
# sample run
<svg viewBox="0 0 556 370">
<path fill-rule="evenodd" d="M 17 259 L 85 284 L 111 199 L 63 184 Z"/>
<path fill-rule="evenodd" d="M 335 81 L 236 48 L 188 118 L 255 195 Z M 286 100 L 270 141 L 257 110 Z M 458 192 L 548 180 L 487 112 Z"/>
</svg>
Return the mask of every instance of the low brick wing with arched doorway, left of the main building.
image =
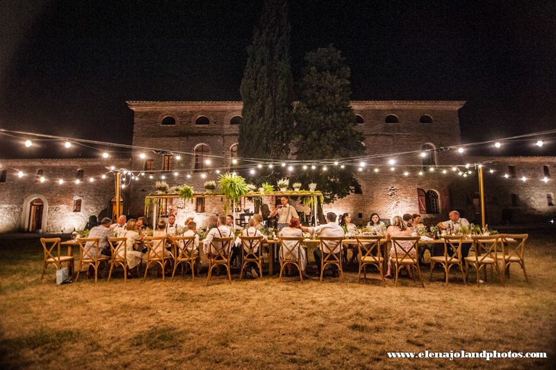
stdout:
<svg viewBox="0 0 556 370">
<path fill-rule="evenodd" d="M 0 183 L 0 232 L 23 230 L 28 224 L 28 203 L 43 197 L 47 201 L 45 232 L 83 230 L 89 216 L 98 216 L 107 209 L 115 193 L 114 176 L 106 179 L 90 177 L 109 172 L 106 166 L 129 167 L 129 159 L 31 159 L 1 160 L 0 170 L 6 170 L 6 182 Z M 83 182 L 76 184 L 77 171 L 83 169 Z M 45 182 L 35 182 L 38 170 Z M 18 177 L 19 171 L 24 177 Z M 64 184 L 58 180 L 64 179 Z M 81 211 L 74 212 L 74 199 L 81 198 Z M 27 202 L 26 202 L 27 201 Z M 24 208 L 24 206 L 26 207 Z M 46 204 L 45 204 L 46 205 Z M 108 214 L 108 212 L 107 212 Z"/>
</svg>

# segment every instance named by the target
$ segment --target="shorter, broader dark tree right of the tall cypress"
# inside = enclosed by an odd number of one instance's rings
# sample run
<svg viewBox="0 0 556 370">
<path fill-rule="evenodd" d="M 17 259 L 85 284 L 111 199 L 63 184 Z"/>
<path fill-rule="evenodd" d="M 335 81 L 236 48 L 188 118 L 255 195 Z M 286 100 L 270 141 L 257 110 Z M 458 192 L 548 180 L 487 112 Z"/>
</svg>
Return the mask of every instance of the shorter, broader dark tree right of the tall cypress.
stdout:
<svg viewBox="0 0 556 370">
<path fill-rule="evenodd" d="M 363 134 L 355 129 L 355 113 L 350 106 L 350 68 L 341 52 L 329 46 L 311 51 L 300 84 L 300 101 L 295 109 L 293 147 L 297 160 L 316 161 L 364 155 Z M 296 179 L 304 188 L 316 182 L 325 202 L 344 198 L 359 186 L 355 166 L 297 168 Z"/>
</svg>

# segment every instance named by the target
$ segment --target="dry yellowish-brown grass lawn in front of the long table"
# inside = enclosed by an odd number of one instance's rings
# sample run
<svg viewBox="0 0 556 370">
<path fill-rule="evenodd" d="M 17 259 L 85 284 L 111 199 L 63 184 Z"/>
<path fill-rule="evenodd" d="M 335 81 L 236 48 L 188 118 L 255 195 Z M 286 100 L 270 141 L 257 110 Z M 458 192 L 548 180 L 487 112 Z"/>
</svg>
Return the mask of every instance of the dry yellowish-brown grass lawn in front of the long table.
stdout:
<svg viewBox="0 0 556 370">
<path fill-rule="evenodd" d="M 76 258 L 78 251 L 75 251 Z M 39 239 L 0 240 L 1 369 L 552 369 L 555 367 L 556 237 L 530 234 L 525 260 L 506 287 L 496 271 L 465 286 L 452 268 L 450 286 L 436 270 L 429 281 L 378 274 L 357 284 L 311 277 L 232 284 L 190 276 L 170 283 L 149 272 L 147 282 L 124 284 L 121 268 L 110 283 L 81 274 L 56 285 L 44 281 Z M 311 253 L 310 253 L 311 254 Z M 312 257 L 312 256 L 310 256 Z M 265 260 L 266 256 L 265 256 Z M 314 262 L 309 262 L 314 264 Z M 144 265 L 142 272 L 144 272 Z M 548 358 L 394 359 L 387 352 L 544 352 Z"/>
</svg>

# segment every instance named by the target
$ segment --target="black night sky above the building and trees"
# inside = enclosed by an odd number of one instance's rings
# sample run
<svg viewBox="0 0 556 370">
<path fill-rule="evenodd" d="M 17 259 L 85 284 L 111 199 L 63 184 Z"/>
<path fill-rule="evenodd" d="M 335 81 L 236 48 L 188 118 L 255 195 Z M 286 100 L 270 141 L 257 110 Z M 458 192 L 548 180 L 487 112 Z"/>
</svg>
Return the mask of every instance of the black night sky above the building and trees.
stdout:
<svg viewBox="0 0 556 370">
<path fill-rule="evenodd" d="M 0 6 L 0 127 L 125 144 L 127 100 L 240 100 L 262 4 L 28 3 Z M 291 1 L 290 22 L 296 79 L 307 51 L 333 44 L 353 100 L 466 100 L 464 142 L 556 128 L 556 2 Z M 0 157 L 80 152 L 0 145 Z M 555 155 L 556 144 L 498 153 Z"/>
</svg>

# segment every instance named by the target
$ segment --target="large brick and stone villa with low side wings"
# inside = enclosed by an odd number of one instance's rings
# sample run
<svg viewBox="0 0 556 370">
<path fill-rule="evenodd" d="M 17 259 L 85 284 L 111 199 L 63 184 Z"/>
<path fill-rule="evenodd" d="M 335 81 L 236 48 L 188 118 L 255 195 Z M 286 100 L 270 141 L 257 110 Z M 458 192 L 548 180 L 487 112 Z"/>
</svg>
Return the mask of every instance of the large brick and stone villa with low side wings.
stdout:
<svg viewBox="0 0 556 370">
<path fill-rule="evenodd" d="M 361 188 L 325 204 L 323 210 L 348 212 L 358 225 L 366 224 L 373 212 L 384 219 L 421 214 L 431 225 L 447 220 L 452 209 L 480 222 L 477 171 L 465 166 L 484 163 L 487 223 L 548 223 L 555 218 L 555 157 L 471 158 L 465 152 L 444 150 L 461 144 L 458 111 L 463 105 L 352 102 L 357 129 L 366 138 L 366 154 L 374 158 L 359 172 Z M 128 102 L 128 106 L 134 111 L 133 145 L 143 148 L 134 149 L 130 159 L 0 160 L 0 232 L 67 232 L 83 229 L 88 216 L 113 216 L 115 181 L 109 166 L 137 175 L 133 180 L 124 175 L 121 211 L 138 217 L 145 213 L 145 196 L 154 193 L 155 182 L 163 177 L 170 186 L 188 184 L 201 192 L 206 180 L 218 179 L 218 171 L 242 165 L 233 163 L 241 102 Z M 460 170 L 473 173 L 464 177 Z M 89 182 L 90 176 L 95 176 L 94 182 Z M 47 181 L 40 182 L 40 177 Z M 58 184 L 59 179 L 64 184 Z M 276 201 L 264 200 L 270 207 Z M 300 204 L 294 205 L 302 211 Z M 240 207 L 253 210 L 254 204 L 245 201 Z M 223 213 L 223 203 L 220 198 L 193 203 L 165 200 L 159 211 L 162 216 L 177 214 L 180 223 L 195 216 L 199 226 L 206 227 Z"/>
</svg>

